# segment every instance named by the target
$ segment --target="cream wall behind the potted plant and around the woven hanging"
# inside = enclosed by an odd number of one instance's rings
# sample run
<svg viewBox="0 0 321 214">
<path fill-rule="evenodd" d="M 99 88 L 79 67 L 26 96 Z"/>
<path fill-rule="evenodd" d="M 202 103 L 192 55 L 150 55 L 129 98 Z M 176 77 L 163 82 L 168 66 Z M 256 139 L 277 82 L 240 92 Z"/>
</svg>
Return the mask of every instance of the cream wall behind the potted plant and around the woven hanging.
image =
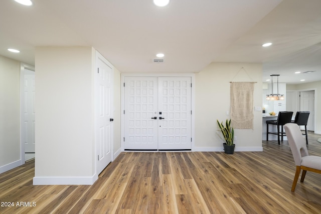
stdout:
<svg viewBox="0 0 321 214">
<path fill-rule="evenodd" d="M 240 70 L 244 67 L 244 70 Z M 256 81 L 254 106 L 262 108 L 262 65 L 252 63 L 212 63 L 196 77 L 195 147 L 198 151 L 223 151 L 215 134 L 217 122 L 230 119 L 230 81 Z M 254 128 L 235 129 L 235 151 L 262 151 L 262 111 L 254 112 Z"/>
</svg>

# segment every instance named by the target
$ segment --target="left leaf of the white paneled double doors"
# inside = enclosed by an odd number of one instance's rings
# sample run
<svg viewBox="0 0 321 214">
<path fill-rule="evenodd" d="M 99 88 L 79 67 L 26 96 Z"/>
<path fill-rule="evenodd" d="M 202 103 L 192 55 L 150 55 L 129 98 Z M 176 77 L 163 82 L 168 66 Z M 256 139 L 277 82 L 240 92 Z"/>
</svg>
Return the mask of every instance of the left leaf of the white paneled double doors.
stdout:
<svg viewBox="0 0 321 214">
<path fill-rule="evenodd" d="M 125 149 L 157 149 L 157 78 L 125 78 Z"/>
</svg>

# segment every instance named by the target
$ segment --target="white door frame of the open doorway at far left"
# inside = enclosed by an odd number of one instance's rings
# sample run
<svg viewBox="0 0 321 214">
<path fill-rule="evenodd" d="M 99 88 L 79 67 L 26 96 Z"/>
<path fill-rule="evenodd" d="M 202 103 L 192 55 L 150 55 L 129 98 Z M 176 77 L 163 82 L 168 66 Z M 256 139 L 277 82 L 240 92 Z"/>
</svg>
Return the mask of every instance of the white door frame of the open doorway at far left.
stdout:
<svg viewBox="0 0 321 214">
<path fill-rule="evenodd" d="M 24 79 L 25 69 L 35 71 L 35 67 L 25 63 L 20 64 L 20 152 L 21 152 L 21 165 L 25 164 L 25 127 L 24 124 L 24 106 L 25 106 L 25 93 L 24 93 Z"/>
</svg>

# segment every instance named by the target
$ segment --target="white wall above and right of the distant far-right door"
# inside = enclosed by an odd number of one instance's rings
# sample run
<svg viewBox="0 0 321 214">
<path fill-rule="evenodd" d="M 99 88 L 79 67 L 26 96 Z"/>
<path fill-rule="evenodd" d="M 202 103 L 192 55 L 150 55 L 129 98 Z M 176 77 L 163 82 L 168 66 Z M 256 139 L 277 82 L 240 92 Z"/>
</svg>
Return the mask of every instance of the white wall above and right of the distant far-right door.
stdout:
<svg viewBox="0 0 321 214">
<path fill-rule="evenodd" d="M 314 133 L 321 134 L 321 81 L 308 82 L 302 84 L 287 84 L 287 90 L 303 91 L 303 90 L 314 90 L 314 105 L 315 105 L 315 127 Z"/>
</svg>

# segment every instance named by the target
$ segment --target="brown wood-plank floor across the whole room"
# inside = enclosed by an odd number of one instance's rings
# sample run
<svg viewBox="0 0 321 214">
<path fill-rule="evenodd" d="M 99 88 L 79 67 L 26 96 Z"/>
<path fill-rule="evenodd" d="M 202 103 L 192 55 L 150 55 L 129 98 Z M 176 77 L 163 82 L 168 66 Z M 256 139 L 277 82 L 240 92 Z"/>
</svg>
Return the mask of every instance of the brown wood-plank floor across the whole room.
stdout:
<svg viewBox="0 0 321 214">
<path fill-rule="evenodd" d="M 309 133 L 310 155 L 320 137 Z M 122 152 L 91 186 L 34 186 L 31 160 L 0 174 L 0 213 L 320 213 L 321 174 L 293 193 L 294 173 L 287 141 L 233 155 Z"/>
</svg>

